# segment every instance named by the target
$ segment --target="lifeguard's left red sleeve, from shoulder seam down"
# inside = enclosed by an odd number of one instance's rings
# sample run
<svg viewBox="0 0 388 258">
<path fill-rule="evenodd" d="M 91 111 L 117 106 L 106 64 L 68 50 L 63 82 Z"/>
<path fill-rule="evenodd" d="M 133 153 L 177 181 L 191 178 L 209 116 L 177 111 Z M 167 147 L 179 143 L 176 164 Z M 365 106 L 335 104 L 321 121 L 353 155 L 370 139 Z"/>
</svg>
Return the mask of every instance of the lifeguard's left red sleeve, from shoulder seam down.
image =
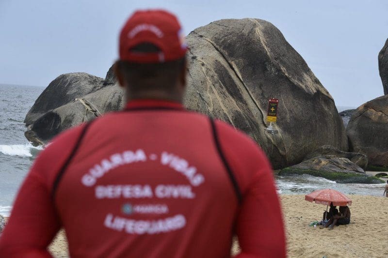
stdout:
<svg viewBox="0 0 388 258">
<path fill-rule="evenodd" d="M 0 237 L 0 257 L 51 257 L 48 245 L 61 227 L 51 198 L 53 181 L 85 124 L 65 131 L 39 153 L 17 194 Z"/>
</svg>

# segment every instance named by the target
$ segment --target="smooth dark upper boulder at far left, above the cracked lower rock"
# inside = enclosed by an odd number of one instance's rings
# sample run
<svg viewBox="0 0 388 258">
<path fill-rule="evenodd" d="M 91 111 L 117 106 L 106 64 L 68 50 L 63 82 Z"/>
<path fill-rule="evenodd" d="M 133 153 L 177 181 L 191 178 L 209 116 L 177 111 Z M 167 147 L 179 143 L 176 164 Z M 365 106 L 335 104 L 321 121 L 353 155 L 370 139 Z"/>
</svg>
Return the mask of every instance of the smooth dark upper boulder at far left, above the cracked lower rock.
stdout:
<svg viewBox="0 0 388 258">
<path fill-rule="evenodd" d="M 24 123 L 32 124 L 45 113 L 103 87 L 104 79 L 86 73 L 58 76 L 36 99 Z"/>
</svg>

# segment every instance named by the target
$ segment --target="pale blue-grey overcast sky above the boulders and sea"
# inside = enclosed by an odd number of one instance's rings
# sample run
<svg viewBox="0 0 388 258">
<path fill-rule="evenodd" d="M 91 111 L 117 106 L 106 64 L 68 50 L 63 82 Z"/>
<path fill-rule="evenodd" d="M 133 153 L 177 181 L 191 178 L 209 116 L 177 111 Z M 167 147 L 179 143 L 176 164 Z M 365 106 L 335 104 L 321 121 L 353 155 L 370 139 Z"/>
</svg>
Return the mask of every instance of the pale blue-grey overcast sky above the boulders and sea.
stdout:
<svg viewBox="0 0 388 258">
<path fill-rule="evenodd" d="M 0 0 L 0 83 L 47 86 L 69 72 L 105 77 L 119 30 L 138 8 L 176 13 L 186 34 L 222 18 L 273 23 L 337 106 L 383 95 L 377 55 L 388 0 Z"/>
</svg>

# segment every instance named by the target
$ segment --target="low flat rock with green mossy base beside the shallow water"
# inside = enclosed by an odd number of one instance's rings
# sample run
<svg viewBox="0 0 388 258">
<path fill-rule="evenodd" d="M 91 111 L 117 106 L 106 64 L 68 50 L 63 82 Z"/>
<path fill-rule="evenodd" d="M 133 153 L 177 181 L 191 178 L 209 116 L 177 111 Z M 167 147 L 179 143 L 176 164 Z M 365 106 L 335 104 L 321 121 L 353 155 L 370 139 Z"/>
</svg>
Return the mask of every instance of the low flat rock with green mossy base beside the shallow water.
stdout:
<svg viewBox="0 0 388 258">
<path fill-rule="evenodd" d="M 308 174 L 337 183 L 382 183 L 347 158 L 332 155 L 314 157 L 292 167 L 280 170 L 279 175 Z"/>
</svg>

